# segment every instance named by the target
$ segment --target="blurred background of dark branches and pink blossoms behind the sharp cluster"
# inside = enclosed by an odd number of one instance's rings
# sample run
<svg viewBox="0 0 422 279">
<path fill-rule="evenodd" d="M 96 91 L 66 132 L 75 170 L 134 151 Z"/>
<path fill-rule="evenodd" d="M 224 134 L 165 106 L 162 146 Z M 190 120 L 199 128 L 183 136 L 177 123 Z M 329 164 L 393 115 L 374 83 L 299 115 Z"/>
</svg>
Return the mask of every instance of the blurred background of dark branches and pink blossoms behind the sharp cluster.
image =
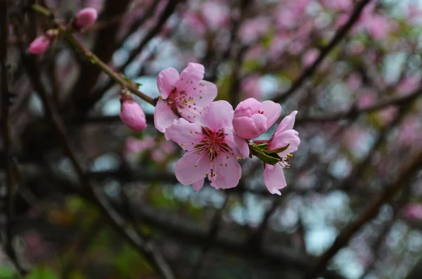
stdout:
<svg viewBox="0 0 422 279">
<path fill-rule="evenodd" d="M 2 2 L 0 278 L 422 278 L 420 1 Z M 178 183 L 152 105 L 129 131 L 120 86 L 66 41 L 27 52 L 51 28 L 34 3 L 63 22 L 98 9 L 75 37 L 153 98 L 158 72 L 195 62 L 217 99 L 298 110 L 282 195 L 259 160 L 230 190 Z"/>
</svg>

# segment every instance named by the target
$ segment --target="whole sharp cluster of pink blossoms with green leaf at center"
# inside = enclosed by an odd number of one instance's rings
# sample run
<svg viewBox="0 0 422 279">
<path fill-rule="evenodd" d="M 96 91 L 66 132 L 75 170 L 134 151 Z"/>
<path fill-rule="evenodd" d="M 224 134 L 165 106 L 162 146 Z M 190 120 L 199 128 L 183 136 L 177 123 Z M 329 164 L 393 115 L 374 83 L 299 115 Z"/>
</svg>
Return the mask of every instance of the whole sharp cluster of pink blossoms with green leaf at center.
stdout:
<svg viewBox="0 0 422 279">
<path fill-rule="evenodd" d="M 155 128 L 185 151 L 176 164 L 177 180 L 195 190 L 205 178 L 214 188 L 233 188 L 242 174 L 238 160 L 256 156 L 264 162 L 269 192 L 281 195 L 283 169 L 290 167 L 288 159 L 300 144 L 293 130 L 297 112 L 285 117 L 269 140 L 252 141 L 279 119 L 281 106 L 248 98 L 234 110 L 225 100 L 213 101 L 217 87 L 203 77 L 204 67 L 196 63 L 188 63 L 180 75 L 172 68 L 158 74 Z"/>
</svg>

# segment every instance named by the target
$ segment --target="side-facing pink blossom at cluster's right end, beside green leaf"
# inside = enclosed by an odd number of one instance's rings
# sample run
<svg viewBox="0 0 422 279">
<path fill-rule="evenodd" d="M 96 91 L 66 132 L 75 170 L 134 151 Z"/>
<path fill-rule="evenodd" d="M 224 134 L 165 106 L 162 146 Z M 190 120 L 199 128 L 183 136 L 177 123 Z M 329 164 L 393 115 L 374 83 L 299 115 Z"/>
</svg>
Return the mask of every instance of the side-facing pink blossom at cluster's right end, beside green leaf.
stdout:
<svg viewBox="0 0 422 279">
<path fill-rule="evenodd" d="M 300 145 L 299 133 L 293 130 L 297 113 L 298 111 L 295 110 L 281 120 L 276 133 L 269 140 L 267 146 L 267 150 L 274 150 L 288 145 L 286 150 L 277 153 L 281 157 L 281 162 L 278 162 L 274 166 L 272 164 L 264 164 L 264 183 L 271 194 L 281 195 L 279 189 L 287 186 L 283 169 L 290 167 L 288 158 L 291 156 L 291 153 L 298 150 L 298 146 Z"/>
</svg>

